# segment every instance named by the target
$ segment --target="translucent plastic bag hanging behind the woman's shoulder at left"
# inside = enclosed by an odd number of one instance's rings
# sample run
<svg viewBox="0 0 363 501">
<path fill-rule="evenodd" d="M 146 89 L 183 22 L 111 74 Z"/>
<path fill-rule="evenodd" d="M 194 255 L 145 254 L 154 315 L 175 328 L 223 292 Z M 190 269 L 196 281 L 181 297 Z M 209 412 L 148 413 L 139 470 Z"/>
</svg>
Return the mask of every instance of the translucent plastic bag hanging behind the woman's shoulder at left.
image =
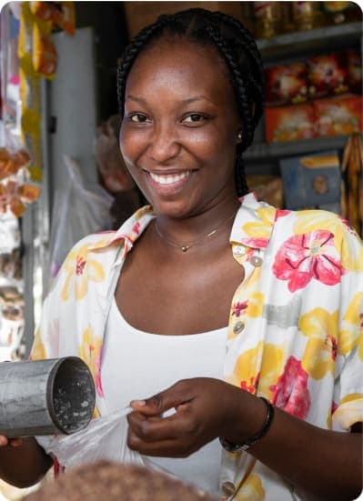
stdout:
<svg viewBox="0 0 363 501">
<path fill-rule="evenodd" d="M 52 277 L 78 240 L 113 226 L 109 213 L 113 196 L 100 185 L 86 185 L 75 160 L 64 155 L 64 162 L 68 179 L 66 187 L 55 193 L 50 236 Z"/>
</svg>

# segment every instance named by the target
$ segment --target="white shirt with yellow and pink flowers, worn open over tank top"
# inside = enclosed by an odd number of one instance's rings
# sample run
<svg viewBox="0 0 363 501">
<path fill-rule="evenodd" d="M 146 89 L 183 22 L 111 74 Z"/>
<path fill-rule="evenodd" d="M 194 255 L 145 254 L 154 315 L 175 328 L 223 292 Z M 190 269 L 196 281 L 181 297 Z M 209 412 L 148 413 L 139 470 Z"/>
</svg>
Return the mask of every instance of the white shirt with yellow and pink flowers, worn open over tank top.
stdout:
<svg viewBox="0 0 363 501">
<path fill-rule="evenodd" d="M 106 318 L 127 253 L 155 217 L 139 209 L 116 232 L 86 236 L 70 251 L 45 299 L 32 358 L 81 356 L 100 377 Z M 230 235 L 244 266 L 230 308 L 225 380 L 322 428 L 363 420 L 363 246 L 346 221 L 241 199 Z M 291 439 L 291 437 L 287 437 Z M 222 453 L 223 499 L 300 499 L 247 452 Z"/>
</svg>

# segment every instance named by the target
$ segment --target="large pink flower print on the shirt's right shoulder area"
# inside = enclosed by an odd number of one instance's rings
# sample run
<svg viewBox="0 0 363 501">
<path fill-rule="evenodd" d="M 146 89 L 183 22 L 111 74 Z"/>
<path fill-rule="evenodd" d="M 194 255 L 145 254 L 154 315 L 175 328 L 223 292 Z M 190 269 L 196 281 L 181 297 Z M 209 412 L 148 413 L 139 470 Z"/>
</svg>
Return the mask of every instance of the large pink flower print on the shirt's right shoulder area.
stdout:
<svg viewBox="0 0 363 501">
<path fill-rule="evenodd" d="M 312 278 L 335 286 L 344 273 L 336 256 L 333 234 L 328 230 L 294 235 L 277 252 L 273 272 L 288 281 L 290 292 L 307 286 Z"/>
</svg>

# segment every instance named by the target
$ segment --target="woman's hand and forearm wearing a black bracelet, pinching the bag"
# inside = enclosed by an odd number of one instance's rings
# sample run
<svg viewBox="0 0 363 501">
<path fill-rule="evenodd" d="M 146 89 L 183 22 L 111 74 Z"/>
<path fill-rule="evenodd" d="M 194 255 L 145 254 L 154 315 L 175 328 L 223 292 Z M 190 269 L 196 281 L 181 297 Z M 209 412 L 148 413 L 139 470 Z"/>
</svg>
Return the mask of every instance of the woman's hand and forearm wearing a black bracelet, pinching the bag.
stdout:
<svg viewBox="0 0 363 501">
<path fill-rule="evenodd" d="M 132 406 L 136 412 L 128 416 L 128 445 L 149 456 L 189 456 L 217 436 L 240 444 L 255 435 L 266 419 L 261 399 L 208 378 L 180 381 Z M 160 416 L 172 407 L 176 414 Z M 248 453 L 310 493 L 310 499 L 315 495 L 343 501 L 360 493 L 358 433 L 324 430 L 276 408 L 267 435 Z"/>
</svg>

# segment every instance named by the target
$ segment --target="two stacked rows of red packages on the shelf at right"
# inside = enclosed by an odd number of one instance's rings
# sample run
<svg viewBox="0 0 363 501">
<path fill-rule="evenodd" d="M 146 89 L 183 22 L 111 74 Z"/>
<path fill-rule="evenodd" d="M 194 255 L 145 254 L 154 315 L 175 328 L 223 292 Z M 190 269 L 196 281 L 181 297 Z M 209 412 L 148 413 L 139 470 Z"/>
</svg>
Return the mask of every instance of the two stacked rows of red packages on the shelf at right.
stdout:
<svg viewBox="0 0 363 501">
<path fill-rule="evenodd" d="M 268 68 L 267 142 L 361 131 L 361 74 L 353 50 Z"/>
</svg>

